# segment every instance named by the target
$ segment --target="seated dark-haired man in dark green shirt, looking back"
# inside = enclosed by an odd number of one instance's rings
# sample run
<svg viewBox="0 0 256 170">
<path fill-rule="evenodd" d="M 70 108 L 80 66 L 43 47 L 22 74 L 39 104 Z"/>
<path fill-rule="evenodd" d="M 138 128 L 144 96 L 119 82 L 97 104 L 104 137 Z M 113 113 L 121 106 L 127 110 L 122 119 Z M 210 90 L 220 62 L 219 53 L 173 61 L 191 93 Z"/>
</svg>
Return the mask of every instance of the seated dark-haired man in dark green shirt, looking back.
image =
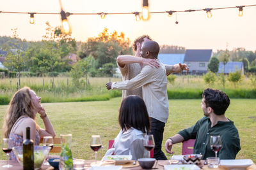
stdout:
<svg viewBox="0 0 256 170">
<path fill-rule="evenodd" d="M 240 139 L 234 122 L 225 117 L 230 100 L 225 92 L 221 90 L 205 89 L 202 94 L 201 108 L 204 116 L 195 125 L 178 132 L 165 143 L 165 150 L 172 152 L 172 146 L 188 139 L 196 139 L 193 153 L 202 154 L 203 158 L 214 157 L 211 150 L 211 136 L 221 136 L 221 150 L 218 152 L 220 159 L 236 159 L 239 152 Z"/>
</svg>

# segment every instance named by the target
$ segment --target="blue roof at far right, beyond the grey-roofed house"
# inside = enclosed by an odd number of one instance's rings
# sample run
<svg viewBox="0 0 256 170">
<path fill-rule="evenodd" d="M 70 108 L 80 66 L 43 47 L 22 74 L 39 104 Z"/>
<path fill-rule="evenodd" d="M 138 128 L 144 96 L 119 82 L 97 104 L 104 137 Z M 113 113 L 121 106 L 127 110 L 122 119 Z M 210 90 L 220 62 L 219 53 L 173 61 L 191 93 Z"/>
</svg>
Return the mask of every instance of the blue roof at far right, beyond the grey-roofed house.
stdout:
<svg viewBox="0 0 256 170">
<path fill-rule="evenodd" d="M 234 73 L 237 70 L 240 71 L 241 69 L 243 69 L 243 62 L 227 62 L 227 64 L 225 65 L 225 71 L 224 71 L 224 64 L 223 62 L 220 62 L 219 64 L 219 70 L 218 73 Z"/>
</svg>

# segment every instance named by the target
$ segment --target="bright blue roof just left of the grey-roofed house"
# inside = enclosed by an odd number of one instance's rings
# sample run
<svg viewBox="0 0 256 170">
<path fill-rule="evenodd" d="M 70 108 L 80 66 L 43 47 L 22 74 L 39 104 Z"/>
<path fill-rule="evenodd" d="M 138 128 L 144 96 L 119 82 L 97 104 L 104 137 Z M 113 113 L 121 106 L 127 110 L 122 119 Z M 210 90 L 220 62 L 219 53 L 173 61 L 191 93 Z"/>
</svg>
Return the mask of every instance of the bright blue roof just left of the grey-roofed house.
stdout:
<svg viewBox="0 0 256 170">
<path fill-rule="evenodd" d="M 184 62 L 184 53 L 159 53 L 158 54 L 158 59 L 163 62 L 163 64 L 168 64 L 168 65 L 174 65 L 183 63 Z"/>
</svg>

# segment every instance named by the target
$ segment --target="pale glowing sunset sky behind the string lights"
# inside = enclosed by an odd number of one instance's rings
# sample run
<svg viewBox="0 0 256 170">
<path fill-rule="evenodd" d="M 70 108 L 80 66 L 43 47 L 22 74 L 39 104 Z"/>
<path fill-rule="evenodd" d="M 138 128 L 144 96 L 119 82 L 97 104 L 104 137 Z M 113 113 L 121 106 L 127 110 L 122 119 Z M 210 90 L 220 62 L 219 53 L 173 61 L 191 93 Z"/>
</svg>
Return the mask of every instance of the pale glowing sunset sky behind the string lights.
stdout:
<svg viewBox="0 0 256 170">
<path fill-rule="evenodd" d="M 125 13 L 141 11 L 141 0 L 62 0 L 63 9 L 70 13 Z M 0 11 L 24 11 L 59 13 L 58 0 L 0 0 Z M 190 10 L 219 8 L 256 4 L 255 0 L 149 0 L 150 11 Z M 104 27 L 110 32 L 124 32 L 134 38 L 142 34 L 150 35 L 160 45 L 179 45 L 187 49 L 213 49 L 214 51 L 243 47 L 256 50 L 256 6 L 243 9 L 243 17 L 238 17 L 238 9 L 214 10 L 212 18 L 205 11 L 152 14 L 147 22 L 136 22 L 134 15 L 70 15 L 72 37 L 86 41 L 95 37 Z M 38 41 L 45 35 L 45 22 L 52 26 L 61 25 L 59 15 L 35 15 L 35 24 L 29 24 L 29 14 L 0 13 L 0 36 L 12 36 L 11 29 L 17 28 L 20 38 Z"/>
</svg>

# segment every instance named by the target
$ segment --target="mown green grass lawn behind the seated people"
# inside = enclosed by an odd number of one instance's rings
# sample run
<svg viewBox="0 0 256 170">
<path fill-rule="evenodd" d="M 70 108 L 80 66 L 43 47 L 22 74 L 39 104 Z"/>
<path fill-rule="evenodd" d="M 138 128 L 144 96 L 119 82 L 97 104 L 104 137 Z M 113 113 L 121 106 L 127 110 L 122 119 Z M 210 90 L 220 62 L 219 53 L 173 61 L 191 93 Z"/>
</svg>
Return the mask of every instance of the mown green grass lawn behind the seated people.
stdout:
<svg viewBox="0 0 256 170">
<path fill-rule="evenodd" d="M 114 139 L 120 131 L 117 120 L 120 101 L 121 98 L 117 97 L 110 101 L 44 103 L 43 105 L 58 137 L 60 134 L 72 133 L 73 157 L 89 160 L 94 159 L 94 153 L 90 148 L 92 134 L 101 136 L 102 146 L 104 146 L 98 152 L 98 159 L 101 159 L 108 150 L 108 140 Z M 164 129 L 163 146 L 168 137 L 190 127 L 195 124 L 196 120 L 203 117 L 200 103 L 200 99 L 169 100 L 170 115 Z M 237 159 L 252 159 L 254 162 L 256 162 L 255 104 L 256 99 L 231 99 L 226 113 L 226 116 L 234 121 L 241 139 L 241 151 Z M 6 108 L 6 105 L 0 106 L 1 127 Z M 44 127 L 39 116 L 37 120 L 38 124 Z M 181 145 L 173 146 L 173 150 L 175 154 L 180 155 Z M 6 159 L 4 152 L 1 152 L 0 159 Z"/>
</svg>

